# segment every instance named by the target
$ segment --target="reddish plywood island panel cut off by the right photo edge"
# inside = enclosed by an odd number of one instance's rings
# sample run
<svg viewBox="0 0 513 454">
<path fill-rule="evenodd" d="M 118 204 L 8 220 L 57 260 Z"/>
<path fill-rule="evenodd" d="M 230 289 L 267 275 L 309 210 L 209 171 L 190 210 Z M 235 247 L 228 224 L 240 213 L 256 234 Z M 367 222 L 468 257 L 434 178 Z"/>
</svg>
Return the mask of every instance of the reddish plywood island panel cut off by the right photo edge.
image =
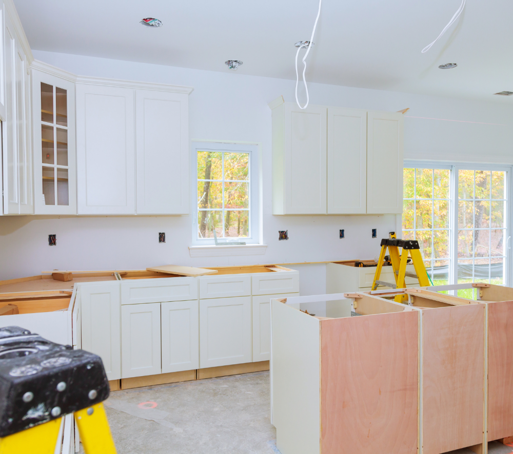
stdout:
<svg viewBox="0 0 513 454">
<path fill-rule="evenodd" d="M 488 304 L 488 440 L 513 435 L 513 301 Z"/>
</svg>

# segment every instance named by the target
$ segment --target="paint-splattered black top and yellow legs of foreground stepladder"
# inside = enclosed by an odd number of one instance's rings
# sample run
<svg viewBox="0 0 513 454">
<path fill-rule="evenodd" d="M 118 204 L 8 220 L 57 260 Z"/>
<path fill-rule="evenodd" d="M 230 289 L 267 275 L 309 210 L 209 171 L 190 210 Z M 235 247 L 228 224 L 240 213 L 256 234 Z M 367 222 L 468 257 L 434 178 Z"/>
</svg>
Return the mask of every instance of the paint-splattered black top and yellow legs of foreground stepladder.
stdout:
<svg viewBox="0 0 513 454">
<path fill-rule="evenodd" d="M 86 454 L 116 454 L 102 404 L 108 397 L 99 356 L 18 326 L 0 328 L 1 454 L 53 454 L 70 413 Z"/>
</svg>

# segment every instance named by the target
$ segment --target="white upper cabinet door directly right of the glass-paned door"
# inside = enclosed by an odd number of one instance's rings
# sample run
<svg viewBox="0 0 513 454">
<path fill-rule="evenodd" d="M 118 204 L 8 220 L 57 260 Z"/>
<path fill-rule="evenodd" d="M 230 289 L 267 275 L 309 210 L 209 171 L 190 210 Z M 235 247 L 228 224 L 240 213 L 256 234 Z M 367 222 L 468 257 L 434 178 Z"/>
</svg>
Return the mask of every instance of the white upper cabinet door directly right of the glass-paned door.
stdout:
<svg viewBox="0 0 513 454">
<path fill-rule="evenodd" d="M 134 90 L 76 84 L 78 214 L 135 214 Z"/>
</svg>

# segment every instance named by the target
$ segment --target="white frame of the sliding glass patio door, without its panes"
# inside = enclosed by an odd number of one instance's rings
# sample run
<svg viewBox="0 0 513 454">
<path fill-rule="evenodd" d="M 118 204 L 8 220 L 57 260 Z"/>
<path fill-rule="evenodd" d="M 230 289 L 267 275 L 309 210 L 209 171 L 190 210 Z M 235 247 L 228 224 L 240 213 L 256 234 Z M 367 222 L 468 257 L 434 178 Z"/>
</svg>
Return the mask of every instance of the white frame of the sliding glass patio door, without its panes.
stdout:
<svg viewBox="0 0 513 454">
<path fill-rule="evenodd" d="M 513 191 L 511 186 L 511 174 L 513 166 L 510 164 L 488 164 L 479 162 L 448 162 L 431 160 L 405 160 L 405 169 L 450 169 L 450 213 L 449 213 L 449 284 L 458 283 L 458 176 L 460 170 L 486 170 L 495 172 L 506 172 L 504 194 L 506 197 L 506 213 L 504 216 L 504 227 L 506 229 L 506 260 L 504 271 L 504 285 L 513 284 L 513 254 L 511 254 L 511 226 L 513 225 L 513 213 L 511 210 L 511 199 Z M 402 222 L 401 222 L 402 226 Z"/>
</svg>

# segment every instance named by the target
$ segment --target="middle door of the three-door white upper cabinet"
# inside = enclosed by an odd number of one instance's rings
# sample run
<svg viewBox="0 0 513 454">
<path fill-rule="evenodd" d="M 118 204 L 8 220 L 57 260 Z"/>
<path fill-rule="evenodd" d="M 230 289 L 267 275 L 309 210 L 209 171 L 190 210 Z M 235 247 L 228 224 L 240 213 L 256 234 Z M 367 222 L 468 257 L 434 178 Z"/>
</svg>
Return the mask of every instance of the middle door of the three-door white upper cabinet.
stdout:
<svg viewBox="0 0 513 454">
<path fill-rule="evenodd" d="M 328 214 L 367 209 L 367 112 L 328 108 Z"/>
</svg>

